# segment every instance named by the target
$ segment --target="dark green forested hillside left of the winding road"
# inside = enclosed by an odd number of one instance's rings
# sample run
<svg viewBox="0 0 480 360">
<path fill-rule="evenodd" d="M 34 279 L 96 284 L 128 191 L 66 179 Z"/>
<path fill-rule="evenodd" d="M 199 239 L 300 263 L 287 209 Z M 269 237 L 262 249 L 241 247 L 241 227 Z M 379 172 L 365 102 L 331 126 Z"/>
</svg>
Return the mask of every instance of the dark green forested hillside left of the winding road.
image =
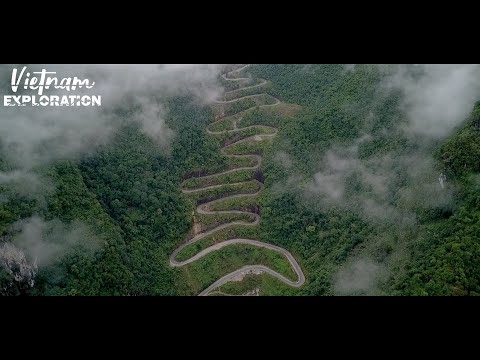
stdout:
<svg viewBox="0 0 480 360">
<path fill-rule="evenodd" d="M 51 184 L 45 197 L 14 195 L 14 186 L 2 186 L 9 194 L 0 204 L 0 230 L 7 242 L 19 236 L 12 224 L 32 215 L 47 222 L 42 246 L 55 241 L 52 232 L 58 233 L 58 224 L 48 223 L 50 219 L 61 221 L 58 242 L 69 234 L 65 227 L 76 229 L 81 222 L 88 228 L 82 242 L 39 266 L 32 288 L 13 281 L 15 274 L 2 268 L 4 294 L 177 294 L 167 256 L 191 221 L 179 184 L 185 173 L 205 164 L 221 166 L 222 160 L 203 133 L 211 119 L 208 107 L 194 105 L 188 97 L 173 98 L 168 106 L 167 122 L 177 134 L 170 152 L 128 124 L 93 155 L 39 169 Z M 135 116 L 134 111 L 122 114 Z M 95 246 L 86 246 L 89 242 Z"/>
</svg>

